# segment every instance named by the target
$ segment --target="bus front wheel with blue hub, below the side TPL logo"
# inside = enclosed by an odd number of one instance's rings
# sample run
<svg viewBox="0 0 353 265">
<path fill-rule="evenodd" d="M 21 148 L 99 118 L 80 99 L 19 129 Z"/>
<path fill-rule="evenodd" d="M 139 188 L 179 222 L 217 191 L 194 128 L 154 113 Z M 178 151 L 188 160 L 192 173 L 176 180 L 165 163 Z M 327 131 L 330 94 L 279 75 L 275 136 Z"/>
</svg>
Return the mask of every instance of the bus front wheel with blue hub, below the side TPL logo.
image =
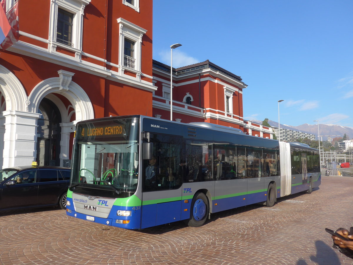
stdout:
<svg viewBox="0 0 353 265">
<path fill-rule="evenodd" d="M 187 221 L 187 225 L 192 227 L 202 226 L 206 222 L 208 213 L 209 204 L 206 195 L 202 192 L 195 194 L 191 202 L 190 219 Z"/>
</svg>

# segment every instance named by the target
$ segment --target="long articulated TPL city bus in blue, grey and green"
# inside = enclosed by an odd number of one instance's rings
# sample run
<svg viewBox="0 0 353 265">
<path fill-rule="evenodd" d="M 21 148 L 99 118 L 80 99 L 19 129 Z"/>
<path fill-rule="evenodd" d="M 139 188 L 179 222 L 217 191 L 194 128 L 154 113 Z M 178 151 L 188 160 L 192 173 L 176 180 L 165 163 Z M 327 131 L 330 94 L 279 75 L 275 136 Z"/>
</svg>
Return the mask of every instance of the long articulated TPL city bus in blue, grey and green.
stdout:
<svg viewBox="0 0 353 265">
<path fill-rule="evenodd" d="M 67 215 L 126 229 L 263 203 L 321 184 L 319 153 L 301 143 L 210 123 L 121 116 L 77 123 Z"/>
</svg>

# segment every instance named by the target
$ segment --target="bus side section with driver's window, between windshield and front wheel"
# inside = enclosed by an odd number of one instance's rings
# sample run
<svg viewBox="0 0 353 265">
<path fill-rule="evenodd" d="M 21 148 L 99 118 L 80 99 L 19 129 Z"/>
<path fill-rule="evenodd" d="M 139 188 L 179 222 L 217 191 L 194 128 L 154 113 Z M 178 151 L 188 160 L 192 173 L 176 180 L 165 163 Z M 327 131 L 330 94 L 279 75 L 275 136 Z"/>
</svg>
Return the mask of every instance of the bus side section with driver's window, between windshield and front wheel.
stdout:
<svg viewBox="0 0 353 265">
<path fill-rule="evenodd" d="M 150 134 L 152 159 L 143 161 L 141 228 L 181 218 L 182 138 Z"/>
</svg>

